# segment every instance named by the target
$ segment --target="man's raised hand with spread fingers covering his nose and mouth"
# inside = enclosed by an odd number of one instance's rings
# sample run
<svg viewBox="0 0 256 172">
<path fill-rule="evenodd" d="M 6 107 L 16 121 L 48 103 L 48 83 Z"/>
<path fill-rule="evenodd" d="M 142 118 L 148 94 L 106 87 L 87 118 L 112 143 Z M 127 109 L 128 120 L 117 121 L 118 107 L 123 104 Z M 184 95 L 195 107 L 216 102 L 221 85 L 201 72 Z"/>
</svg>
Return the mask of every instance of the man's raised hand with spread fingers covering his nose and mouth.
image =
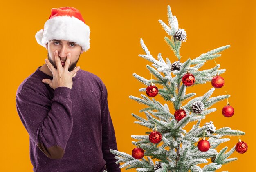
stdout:
<svg viewBox="0 0 256 172">
<path fill-rule="evenodd" d="M 54 51 L 54 56 L 57 69 L 52 66 L 48 59 L 45 59 L 45 63 L 52 72 L 53 79 L 43 79 L 43 82 L 49 84 L 49 86 L 54 90 L 61 86 L 65 86 L 71 89 L 73 85 L 72 76 L 76 74 L 80 67 L 78 66 L 71 72 L 68 71 L 71 53 L 67 53 L 67 59 L 64 68 L 61 65 L 61 59 L 58 56 L 58 50 Z"/>
</svg>

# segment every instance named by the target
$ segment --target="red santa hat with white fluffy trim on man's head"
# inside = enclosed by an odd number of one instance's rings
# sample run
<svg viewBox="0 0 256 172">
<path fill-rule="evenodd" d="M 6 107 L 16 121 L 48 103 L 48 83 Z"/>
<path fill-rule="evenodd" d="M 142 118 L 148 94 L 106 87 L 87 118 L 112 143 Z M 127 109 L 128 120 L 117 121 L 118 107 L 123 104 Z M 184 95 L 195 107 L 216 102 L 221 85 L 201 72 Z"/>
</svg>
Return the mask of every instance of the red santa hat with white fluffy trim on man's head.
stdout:
<svg viewBox="0 0 256 172">
<path fill-rule="evenodd" d="M 44 29 L 38 31 L 35 37 L 37 43 L 45 48 L 53 39 L 75 42 L 83 51 L 90 48 L 90 28 L 85 24 L 78 9 L 74 7 L 52 8 Z"/>
</svg>

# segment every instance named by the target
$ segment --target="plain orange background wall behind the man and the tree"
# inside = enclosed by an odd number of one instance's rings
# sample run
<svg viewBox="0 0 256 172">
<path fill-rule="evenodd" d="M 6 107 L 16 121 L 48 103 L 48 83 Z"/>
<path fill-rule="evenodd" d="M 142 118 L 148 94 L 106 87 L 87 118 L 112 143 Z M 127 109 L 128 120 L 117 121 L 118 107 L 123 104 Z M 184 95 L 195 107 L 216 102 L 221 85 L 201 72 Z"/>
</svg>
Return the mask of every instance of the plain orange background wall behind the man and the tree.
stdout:
<svg viewBox="0 0 256 172">
<path fill-rule="evenodd" d="M 248 144 L 245 154 L 234 152 L 230 157 L 238 160 L 223 165 L 218 172 L 253 171 L 255 157 L 254 104 L 256 93 L 254 78 L 255 68 L 255 30 L 256 5 L 249 0 L 112 0 L 112 1 L 4 1 L 1 2 L 1 119 L 0 119 L 0 171 L 31 172 L 29 159 L 29 135 L 22 125 L 16 111 L 15 95 L 19 84 L 43 65 L 47 58 L 47 50 L 37 44 L 35 34 L 49 18 L 51 8 L 72 6 L 79 9 L 91 30 L 91 48 L 83 53 L 78 65 L 81 69 L 98 75 L 108 89 L 108 104 L 115 127 L 118 149 L 131 154 L 134 145 L 131 135 L 144 135 L 149 131 L 143 126 L 133 123 L 131 113 L 145 117 L 138 111 L 144 105 L 128 98 L 129 95 L 140 97 L 144 88 L 132 73 L 150 79 L 146 64 L 152 64 L 139 57 L 144 54 L 139 39 L 143 38 L 150 53 L 157 57 L 162 53 L 172 62 L 177 60 L 164 41 L 168 36 L 158 20 L 167 23 L 167 5 L 171 6 L 173 15 L 179 21 L 179 27 L 185 29 L 187 41 L 182 43 L 181 62 L 187 58 L 198 57 L 209 50 L 230 44 L 222 51 L 222 57 L 216 62 L 227 71 L 222 74 L 225 86 L 216 89 L 212 96 L 224 95 L 227 91 L 231 97 L 229 102 L 235 108 L 231 118 L 223 117 L 221 110 L 227 101 L 213 105 L 216 112 L 207 115 L 205 122 L 213 121 L 216 128 L 225 126 L 242 130 L 246 135 L 240 136 Z M 5 66 L 5 67 L 4 67 Z M 213 60 L 208 61 L 202 69 L 215 66 Z M 193 86 L 187 93 L 195 92 L 203 95 L 211 89 L 211 83 Z M 159 88 L 162 88 L 159 86 Z M 145 93 L 142 93 L 145 95 Z M 155 97 L 162 104 L 162 97 Z M 168 103 L 170 108 L 172 105 Z M 173 109 L 170 109 L 173 114 Z M 194 122 L 195 123 L 195 122 Z M 188 128 L 194 123 L 190 123 Z M 238 137 L 217 147 L 224 146 L 230 150 Z M 122 168 L 122 171 L 124 168 Z M 129 170 L 131 172 L 135 170 Z"/>
</svg>

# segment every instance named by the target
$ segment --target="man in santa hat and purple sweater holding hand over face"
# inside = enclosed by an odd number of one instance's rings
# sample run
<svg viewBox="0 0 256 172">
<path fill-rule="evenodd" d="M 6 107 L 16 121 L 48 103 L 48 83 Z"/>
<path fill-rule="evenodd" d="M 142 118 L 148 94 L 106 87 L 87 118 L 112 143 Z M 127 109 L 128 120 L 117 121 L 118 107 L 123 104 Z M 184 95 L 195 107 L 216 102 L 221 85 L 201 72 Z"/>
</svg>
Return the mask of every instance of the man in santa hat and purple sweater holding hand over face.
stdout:
<svg viewBox="0 0 256 172">
<path fill-rule="evenodd" d="M 76 64 L 90 29 L 73 7 L 52 9 L 36 33 L 48 59 L 18 87 L 18 115 L 29 133 L 34 172 L 121 172 L 102 80 Z"/>
</svg>

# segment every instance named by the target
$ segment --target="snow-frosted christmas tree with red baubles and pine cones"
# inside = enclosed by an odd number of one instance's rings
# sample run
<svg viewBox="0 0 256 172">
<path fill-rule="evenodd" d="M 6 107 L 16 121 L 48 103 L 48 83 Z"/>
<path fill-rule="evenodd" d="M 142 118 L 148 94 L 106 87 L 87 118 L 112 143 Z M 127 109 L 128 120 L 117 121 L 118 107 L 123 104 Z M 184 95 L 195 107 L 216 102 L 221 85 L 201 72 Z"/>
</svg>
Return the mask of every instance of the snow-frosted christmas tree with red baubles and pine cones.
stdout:
<svg viewBox="0 0 256 172">
<path fill-rule="evenodd" d="M 110 152 L 116 155 L 116 163 L 124 163 L 120 168 L 135 168 L 138 172 L 213 172 L 221 168 L 223 164 L 236 160 L 237 158 L 229 158 L 235 150 L 238 153 L 245 153 L 248 148 L 247 144 L 239 139 L 238 143 L 228 152 L 226 152 L 227 146 L 217 152 L 215 148 L 220 143 L 230 140 L 224 138 L 225 136 L 245 135 L 245 132 L 232 130 L 229 127 L 216 130 L 212 121 L 200 127 L 201 120 L 216 111 L 216 108 L 211 108 L 211 106 L 230 97 L 230 95 L 211 97 L 216 88 L 224 85 L 224 79 L 220 74 L 226 70 L 219 69 L 220 64 L 215 62 L 216 66 L 207 70 L 200 70 L 200 68 L 208 60 L 220 57 L 219 53 L 229 48 L 230 45 L 213 49 L 181 63 L 180 48 L 182 42 L 187 39 L 186 31 L 179 29 L 178 20 L 172 15 L 170 6 L 167 9 L 168 25 L 162 20 L 159 22 L 170 36 L 170 38 L 165 37 L 165 41 L 178 61 L 171 63 L 168 58 L 164 60 L 161 53 L 157 55 L 157 59 L 154 58 L 141 39 L 140 43 L 146 54 L 139 56 L 153 62 L 153 67 L 146 65 L 151 73 L 151 79 L 145 79 L 133 73 L 135 78 L 147 86 L 139 89 L 139 91 L 146 92 L 147 96 L 144 94 L 141 94 L 142 98 L 129 96 L 130 99 L 147 106 L 139 111 L 144 112 L 147 119 L 132 113 L 132 116 L 138 120 L 135 123 L 153 131 L 146 132 L 146 135 L 131 136 L 139 140 L 132 141 L 132 144 L 136 146 L 132 150 L 132 155 L 112 149 Z M 152 79 L 152 74 L 156 79 Z M 210 81 L 213 88 L 203 96 L 192 99 L 195 93 L 186 94 L 187 87 Z M 163 88 L 158 89 L 154 83 Z M 158 94 L 173 105 L 174 114 L 170 112 L 168 104 L 163 105 L 154 98 L 149 98 Z M 222 109 L 222 114 L 225 117 L 234 115 L 234 108 L 229 105 L 229 102 Z M 195 125 L 187 132 L 184 127 L 190 122 L 195 122 Z M 207 159 L 210 159 L 211 163 L 201 168 L 202 165 L 199 166 L 199 164 L 208 163 Z"/>
</svg>

